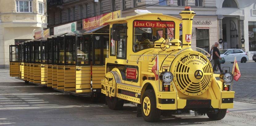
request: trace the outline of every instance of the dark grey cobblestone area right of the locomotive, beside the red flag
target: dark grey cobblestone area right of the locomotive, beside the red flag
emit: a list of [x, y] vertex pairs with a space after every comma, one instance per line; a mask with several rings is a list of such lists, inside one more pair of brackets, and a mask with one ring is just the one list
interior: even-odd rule
[[[221, 64], [221, 67], [233, 68], [232, 63]], [[235, 101], [256, 104], [256, 62], [238, 63], [241, 77], [238, 81], [233, 80]]]

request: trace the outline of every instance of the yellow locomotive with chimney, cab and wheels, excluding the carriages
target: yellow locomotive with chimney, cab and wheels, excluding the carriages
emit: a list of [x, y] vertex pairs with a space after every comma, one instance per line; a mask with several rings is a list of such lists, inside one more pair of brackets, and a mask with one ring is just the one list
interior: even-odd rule
[[[101, 93], [109, 108], [120, 109], [128, 100], [141, 106], [144, 120], [150, 122], [186, 110], [219, 120], [227, 108], [233, 108], [234, 92], [224, 90], [229, 84], [216, 80], [219, 75], [213, 73], [209, 53], [191, 47], [195, 13], [185, 8], [180, 15], [182, 20], [138, 14], [108, 22], [110, 53]], [[180, 23], [183, 42], [176, 39]]]

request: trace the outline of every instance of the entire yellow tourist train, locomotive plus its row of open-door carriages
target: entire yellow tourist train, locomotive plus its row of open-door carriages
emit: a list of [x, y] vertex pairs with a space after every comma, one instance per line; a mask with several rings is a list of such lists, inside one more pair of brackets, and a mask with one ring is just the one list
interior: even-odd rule
[[190, 110], [221, 120], [233, 108], [233, 75], [214, 74], [209, 53], [191, 47], [195, 14], [190, 7], [182, 19], [138, 14], [10, 45], [10, 76], [96, 99], [103, 94], [113, 110], [129, 101], [149, 122]]

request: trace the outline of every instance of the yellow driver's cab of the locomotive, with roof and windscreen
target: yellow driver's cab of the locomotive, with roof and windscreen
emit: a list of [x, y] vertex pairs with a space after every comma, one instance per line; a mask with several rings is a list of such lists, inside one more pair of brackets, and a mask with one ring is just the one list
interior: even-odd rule
[[[177, 41], [181, 22], [178, 18], [163, 14], [139, 14], [109, 21], [106, 73], [115, 69], [121, 74], [121, 83], [141, 86], [140, 76], [143, 76], [143, 71], [148, 72], [148, 66], [142, 64], [148, 64], [148, 61], [138, 61], [138, 58], [181, 48], [180, 41]], [[135, 70], [136, 75], [127, 75], [127, 70]]]

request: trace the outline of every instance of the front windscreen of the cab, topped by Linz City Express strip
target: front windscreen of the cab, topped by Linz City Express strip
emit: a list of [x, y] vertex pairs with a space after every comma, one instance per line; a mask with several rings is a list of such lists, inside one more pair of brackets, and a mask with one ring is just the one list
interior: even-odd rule
[[133, 22], [133, 51], [154, 48], [154, 42], [163, 39], [174, 39], [175, 23], [173, 21], [145, 21]]

